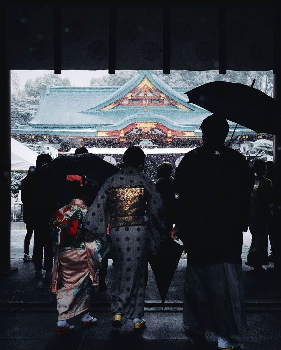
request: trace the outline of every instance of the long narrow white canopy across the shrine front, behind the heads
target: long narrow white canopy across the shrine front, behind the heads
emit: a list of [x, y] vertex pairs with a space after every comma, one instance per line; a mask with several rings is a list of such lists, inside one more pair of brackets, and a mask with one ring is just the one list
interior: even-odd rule
[[[185, 154], [195, 147], [183, 148], [142, 148], [145, 154]], [[68, 153], [74, 153], [76, 148], [70, 148]], [[113, 147], [90, 147], [87, 148], [89, 153], [94, 154], [124, 154], [127, 148], [113, 148]]]

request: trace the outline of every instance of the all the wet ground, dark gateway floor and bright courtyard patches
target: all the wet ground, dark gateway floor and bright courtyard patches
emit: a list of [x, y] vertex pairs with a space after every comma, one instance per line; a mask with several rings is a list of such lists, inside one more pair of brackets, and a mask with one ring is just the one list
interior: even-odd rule
[[[149, 280], [145, 294], [145, 318], [147, 328], [135, 331], [130, 320], [123, 320], [118, 330], [111, 325], [110, 286], [112, 280], [112, 260], [109, 260], [106, 282], [108, 290], [92, 290], [90, 314], [98, 318], [90, 329], [82, 329], [80, 317], [71, 320], [75, 325], [73, 334], [57, 337], [55, 326], [57, 311], [49, 292], [50, 280], [34, 278], [32, 262], [22, 261], [22, 247], [25, 226], [12, 224], [11, 244], [12, 266], [18, 271], [2, 279], [0, 285], [0, 349], [4, 350], [84, 350], [84, 349], [171, 349], [214, 350], [217, 348], [216, 335], [206, 332], [206, 344], [192, 344], [182, 328], [183, 322], [183, 282], [186, 267], [184, 257], [179, 265], [166, 298], [165, 311], [159, 301], [155, 279], [149, 267]], [[244, 235], [243, 276], [247, 307], [248, 334], [234, 336], [242, 342], [245, 350], [281, 349], [281, 282], [280, 278], [267, 272], [256, 273], [245, 265], [247, 243]], [[32, 245], [30, 245], [32, 253]], [[244, 254], [244, 255], [243, 255]], [[270, 266], [272, 264], [270, 263]]]

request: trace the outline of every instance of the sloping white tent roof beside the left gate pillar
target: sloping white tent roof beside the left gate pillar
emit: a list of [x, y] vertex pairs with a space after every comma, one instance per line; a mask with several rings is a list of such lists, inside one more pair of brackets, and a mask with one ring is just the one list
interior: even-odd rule
[[22, 145], [19, 141], [11, 139], [11, 170], [28, 170], [35, 166], [38, 153]]

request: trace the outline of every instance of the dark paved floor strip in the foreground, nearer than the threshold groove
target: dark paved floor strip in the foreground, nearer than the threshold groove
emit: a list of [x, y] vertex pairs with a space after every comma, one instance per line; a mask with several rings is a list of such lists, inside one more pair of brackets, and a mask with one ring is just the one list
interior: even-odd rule
[[[55, 311], [0, 310], [0, 348], [2, 350], [191, 350], [194, 346], [181, 327], [181, 312], [148, 311], [145, 313], [148, 327], [134, 331], [131, 321], [123, 320], [119, 330], [111, 327], [108, 312], [90, 310], [98, 319], [97, 324], [84, 330], [80, 317], [71, 320], [75, 325], [73, 334], [55, 336], [57, 313]], [[242, 342], [244, 350], [280, 350], [281, 312], [247, 311], [248, 334], [234, 336]], [[200, 350], [215, 350], [216, 335], [206, 332], [208, 343]]]

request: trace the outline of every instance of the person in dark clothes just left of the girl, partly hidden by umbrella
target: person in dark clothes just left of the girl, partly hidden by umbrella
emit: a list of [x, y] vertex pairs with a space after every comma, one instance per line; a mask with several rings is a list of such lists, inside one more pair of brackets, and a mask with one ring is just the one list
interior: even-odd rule
[[[33, 262], [35, 268], [35, 278], [43, 276], [42, 268], [46, 271], [45, 278], [52, 278], [53, 270], [53, 242], [50, 235], [49, 222], [53, 215], [51, 198], [46, 193], [44, 183], [40, 179], [40, 168], [50, 162], [52, 157], [49, 154], [39, 154], [36, 159], [36, 180], [34, 186], [34, 251]], [[43, 262], [44, 251], [44, 266]]]

